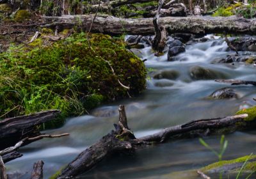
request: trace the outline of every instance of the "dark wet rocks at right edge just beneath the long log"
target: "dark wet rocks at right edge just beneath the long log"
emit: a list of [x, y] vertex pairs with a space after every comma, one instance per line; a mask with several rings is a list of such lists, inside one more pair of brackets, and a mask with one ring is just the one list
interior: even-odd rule
[[256, 38], [255, 37], [241, 36], [239, 38], [230, 38], [230, 43], [237, 49], [237, 51], [256, 52], [256, 45], [255, 45]]

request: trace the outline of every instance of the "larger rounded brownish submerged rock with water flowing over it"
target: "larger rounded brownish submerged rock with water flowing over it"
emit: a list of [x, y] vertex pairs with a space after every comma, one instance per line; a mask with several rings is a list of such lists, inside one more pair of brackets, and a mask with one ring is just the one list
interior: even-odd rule
[[194, 80], [202, 79], [226, 79], [226, 75], [216, 70], [203, 68], [201, 66], [193, 66], [190, 70], [190, 76]]

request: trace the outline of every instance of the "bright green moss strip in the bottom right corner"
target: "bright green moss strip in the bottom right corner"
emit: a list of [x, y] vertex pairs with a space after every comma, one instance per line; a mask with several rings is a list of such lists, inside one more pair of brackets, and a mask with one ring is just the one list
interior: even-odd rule
[[[200, 170], [201, 171], [209, 171], [211, 169], [217, 169], [219, 167], [222, 167], [222, 166], [225, 166], [228, 164], [236, 164], [236, 163], [240, 163], [240, 162], [245, 162], [246, 160], [256, 159], [256, 155], [252, 155], [250, 157], [250, 159], [248, 159], [248, 157], [250, 157], [250, 155], [246, 155], [244, 157], [240, 157], [238, 159], [233, 159], [233, 160], [221, 160], [220, 162], [216, 162], [214, 164], [210, 164], [209, 166], [203, 167]], [[248, 166], [248, 167], [252, 167], [252, 166]]]

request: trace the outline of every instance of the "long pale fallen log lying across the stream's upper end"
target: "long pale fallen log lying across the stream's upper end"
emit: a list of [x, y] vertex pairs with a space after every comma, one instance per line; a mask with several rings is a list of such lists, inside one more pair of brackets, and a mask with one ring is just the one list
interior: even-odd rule
[[[88, 31], [94, 15], [63, 15], [62, 17], [41, 17], [40, 27], [61, 26], [72, 28], [79, 24], [83, 30]], [[77, 20], [79, 19], [79, 20]], [[93, 22], [92, 32], [106, 33], [110, 35], [154, 35], [152, 18], [144, 19], [120, 19], [108, 15], [97, 15]], [[227, 33], [255, 34], [256, 19], [244, 19], [240, 17], [159, 17], [159, 25], [163, 26], [169, 34], [172, 33]], [[17, 25], [16, 25], [17, 26]]]

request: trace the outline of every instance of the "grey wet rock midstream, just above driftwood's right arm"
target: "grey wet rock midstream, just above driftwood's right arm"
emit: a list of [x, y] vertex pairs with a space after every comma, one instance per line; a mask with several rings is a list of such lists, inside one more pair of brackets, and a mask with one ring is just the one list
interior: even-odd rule
[[237, 98], [238, 95], [235, 93], [234, 89], [221, 88], [214, 91], [209, 97], [214, 99], [229, 99], [229, 98]]

